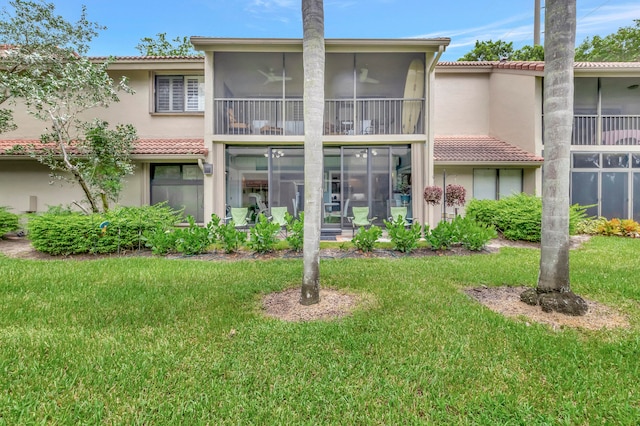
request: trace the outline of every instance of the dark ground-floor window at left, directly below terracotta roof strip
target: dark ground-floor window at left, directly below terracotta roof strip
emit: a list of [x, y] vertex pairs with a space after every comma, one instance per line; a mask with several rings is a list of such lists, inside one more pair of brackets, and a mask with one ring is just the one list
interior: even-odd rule
[[197, 164], [152, 164], [151, 204], [166, 202], [204, 221], [204, 176]]

